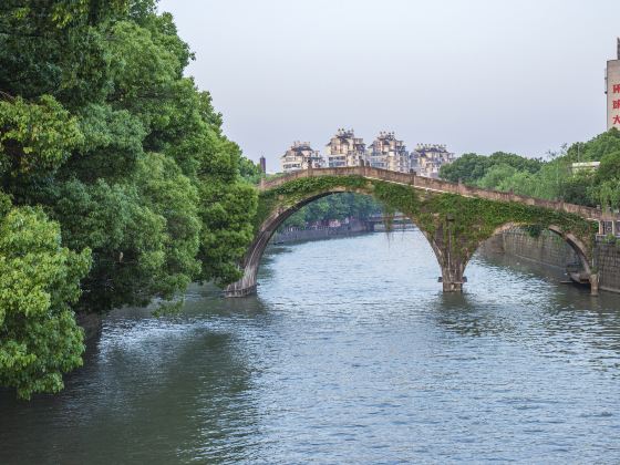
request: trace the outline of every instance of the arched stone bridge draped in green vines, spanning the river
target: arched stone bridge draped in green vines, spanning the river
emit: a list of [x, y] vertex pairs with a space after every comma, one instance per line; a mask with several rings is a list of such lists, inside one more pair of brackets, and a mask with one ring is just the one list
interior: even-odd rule
[[260, 258], [278, 227], [304, 205], [335, 193], [373, 196], [388, 213], [401, 211], [428, 240], [442, 270], [443, 290], [463, 289], [463, 272], [478, 246], [516, 226], [547, 228], [577, 252], [582, 279], [598, 290], [592, 262], [598, 223], [609, 214], [564, 202], [480, 189], [441, 179], [369, 166], [299, 170], [262, 182], [255, 237], [241, 265], [244, 276], [226, 288], [228, 297], [256, 291]]

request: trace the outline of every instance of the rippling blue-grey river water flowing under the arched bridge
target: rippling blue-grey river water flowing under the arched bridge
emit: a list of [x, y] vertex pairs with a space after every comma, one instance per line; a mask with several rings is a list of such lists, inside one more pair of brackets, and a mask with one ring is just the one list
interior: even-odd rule
[[620, 462], [620, 296], [415, 231], [273, 248], [257, 297], [110, 314], [56, 396], [0, 393], [0, 463]]

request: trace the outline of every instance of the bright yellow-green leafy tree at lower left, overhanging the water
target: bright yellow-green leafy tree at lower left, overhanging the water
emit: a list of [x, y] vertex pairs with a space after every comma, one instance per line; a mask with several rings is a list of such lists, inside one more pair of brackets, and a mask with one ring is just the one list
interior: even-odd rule
[[80, 296], [90, 250], [60, 245], [60, 228], [32, 208], [0, 220], [0, 385], [20, 397], [58, 392], [82, 364], [82, 331], [70, 304]]

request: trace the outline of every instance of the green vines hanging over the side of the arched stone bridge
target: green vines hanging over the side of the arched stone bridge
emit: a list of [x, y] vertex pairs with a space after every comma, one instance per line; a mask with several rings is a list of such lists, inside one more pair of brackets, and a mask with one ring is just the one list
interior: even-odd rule
[[402, 211], [422, 231], [431, 236], [451, 235], [453, 238], [450, 241], [451, 254], [464, 262], [483, 240], [493, 236], [497, 228], [508, 223], [536, 225], [540, 228], [555, 226], [579, 237], [590, 248], [596, 231], [593, 223], [577, 215], [519, 203], [469, 198], [454, 194], [424, 193], [409, 186], [360, 176], [297, 178], [273, 189], [261, 192], [255, 226], [258, 228], [278, 208], [291, 207], [304, 199], [342, 188], [373, 196], [385, 206], [388, 211]]

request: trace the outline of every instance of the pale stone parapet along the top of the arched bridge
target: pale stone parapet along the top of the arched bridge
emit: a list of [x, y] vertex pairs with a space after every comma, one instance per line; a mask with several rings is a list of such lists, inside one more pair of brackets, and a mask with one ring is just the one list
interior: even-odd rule
[[513, 193], [499, 190], [488, 190], [478, 187], [466, 186], [461, 183], [435, 179], [431, 177], [416, 176], [415, 174], [399, 173], [388, 169], [371, 168], [369, 166], [348, 166], [342, 168], [313, 168], [290, 173], [271, 180], [261, 180], [260, 190], [268, 190], [281, 186], [293, 179], [316, 176], [363, 176], [370, 179], [380, 179], [388, 183], [403, 184], [416, 189], [431, 190], [437, 193], [457, 194], [464, 197], [486, 198], [497, 202], [516, 202], [536, 207], [550, 208], [558, 211], [579, 215], [591, 220], [620, 220], [620, 215], [610, 214], [598, 208], [585, 207], [582, 205], [567, 204], [558, 200], [545, 200], [536, 197], [528, 197]]

